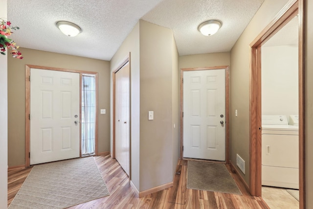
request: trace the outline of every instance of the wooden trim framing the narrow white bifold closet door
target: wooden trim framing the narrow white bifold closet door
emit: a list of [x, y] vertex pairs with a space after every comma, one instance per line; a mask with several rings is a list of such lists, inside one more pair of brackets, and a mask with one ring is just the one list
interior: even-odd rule
[[[131, 145], [131, 141], [132, 141], [132, 136], [131, 136], [131, 128], [132, 128], [132, 109], [131, 109], [131, 101], [132, 101], [132, 98], [131, 98], [131, 95], [132, 95], [132, 91], [131, 91], [131, 53], [129, 53], [129, 55], [127, 55], [124, 59], [123, 59], [123, 61], [120, 63], [120, 64], [118, 64], [118, 67], [115, 69], [115, 70], [113, 70], [112, 71], [112, 85], [113, 85], [113, 101], [112, 101], [112, 103], [113, 103], [113, 110], [112, 110], [112, 114], [113, 114], [113, 116], [112, 116], [112, 155], [111, 155], [111, 157], [112, 158], [115, 158], [115, 73], [118, 71], [118, 70], [120, 70], [127, 62], [129, 62], [129, 70], [130, 70], [130, 98], [129, 98], [129, 115], [130, 115], [130, 123], [129, 123], [129, 126], [130, 126], [130, 133], [129, 133], [129, 138], [130, 138], [130, 156], [129, 156], [129, 160], [130, 160], [130, 162], [129, 162], [129, 165], [130, 165], [130, 176], [131, 176], [131, 173], [132, 173], [132, 169], [131, 169], [131, 157], [132, 157], [132, 155], [131, 155], [131, 150], [132, 150], [132, 145]], [[130, 177], [129, 176], [129, 177]]]

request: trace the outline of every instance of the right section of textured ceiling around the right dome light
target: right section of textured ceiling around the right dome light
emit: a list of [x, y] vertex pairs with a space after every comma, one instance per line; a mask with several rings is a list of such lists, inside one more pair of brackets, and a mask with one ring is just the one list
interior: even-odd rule
[[[142, 17], [172, 28], [179, 55], [230, 51], [264, 0], [163, 0]], [[223, 25], [212, 36], [198, 26], [217, 19]]]

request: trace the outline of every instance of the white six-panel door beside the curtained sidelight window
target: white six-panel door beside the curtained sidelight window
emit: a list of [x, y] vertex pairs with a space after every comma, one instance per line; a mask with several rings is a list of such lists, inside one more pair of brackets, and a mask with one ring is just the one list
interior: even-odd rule
[[30, 69], [30, 78], [30, 164], [79, 157], [80, 74]]

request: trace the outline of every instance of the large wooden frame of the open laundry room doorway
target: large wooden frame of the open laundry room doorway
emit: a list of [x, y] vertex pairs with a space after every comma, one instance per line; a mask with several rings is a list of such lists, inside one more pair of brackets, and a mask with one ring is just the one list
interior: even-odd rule
[[299, 18], [299, 194], [300, 209], [305, 208], [305, 98], [304, 98], [304, 0], [290, 0], [250, 44], [250, 193], [262, 195], [262, 109], [261, 46], [297, 14]]

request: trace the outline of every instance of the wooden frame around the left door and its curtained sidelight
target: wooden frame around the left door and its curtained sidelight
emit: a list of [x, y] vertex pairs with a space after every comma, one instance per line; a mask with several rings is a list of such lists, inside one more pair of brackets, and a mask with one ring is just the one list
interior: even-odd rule
[[[40, 70], [55, 70], [55, 71], [64, 71], [64, 72], [76, 72], [80, 73], [80, 84], [79, 84], [79, 111], [80, 111], [80, 121], [82, 120], [82, 105], [81, 105], [81, 92], [82, 92], [82, 74], [94, 74], [96, 79], [96, 127], [95, 127], [95, 155], [98, 155], [98, 72], [92, 71], [83, 71], [83, 70], [69, 70], [63, 68], [53, 68], [53, 67], [45, 67], [45, 66], [37, 66], [37, 65], [25, 65], [25, 166], [30, 166], [30, 69], [40, 69]], [[79, 123], [79, 156], [82, 157], [81, 154], [81, 123]]]

